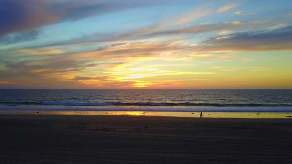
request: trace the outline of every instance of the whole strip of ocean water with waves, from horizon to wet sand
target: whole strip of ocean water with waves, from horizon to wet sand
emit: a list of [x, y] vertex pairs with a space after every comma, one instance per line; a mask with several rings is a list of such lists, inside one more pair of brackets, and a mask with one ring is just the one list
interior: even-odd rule
[[0, 110], [292, 112], [292, 89], [0, 89]]

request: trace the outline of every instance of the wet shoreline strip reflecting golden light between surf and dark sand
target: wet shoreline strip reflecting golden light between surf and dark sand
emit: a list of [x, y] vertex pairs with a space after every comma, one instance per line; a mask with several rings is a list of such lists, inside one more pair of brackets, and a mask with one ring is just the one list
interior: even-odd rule
[[[202, 112], [203, 118], [290, 119], [292, 112]], [[200, 112], [3, 110], [0, 115], [130, 115], [199, 118]]]

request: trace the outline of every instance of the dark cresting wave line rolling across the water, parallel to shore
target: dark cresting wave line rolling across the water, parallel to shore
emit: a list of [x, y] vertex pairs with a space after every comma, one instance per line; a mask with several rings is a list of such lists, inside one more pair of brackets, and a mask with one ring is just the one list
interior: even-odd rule
[[206, 107], [292, 107], [292, 104], [222, 104], [222, 103], [161, 103], [161, 102], [0, 102], [0, 105], [52, 105], [52, 106], [206, 106]]

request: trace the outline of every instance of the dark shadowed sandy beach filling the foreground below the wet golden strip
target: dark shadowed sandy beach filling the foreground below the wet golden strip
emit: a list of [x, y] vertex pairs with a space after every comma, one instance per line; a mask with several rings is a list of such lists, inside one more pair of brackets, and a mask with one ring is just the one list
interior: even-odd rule
[[1, 164], [291, 164], [292, 121], [0, 114]]

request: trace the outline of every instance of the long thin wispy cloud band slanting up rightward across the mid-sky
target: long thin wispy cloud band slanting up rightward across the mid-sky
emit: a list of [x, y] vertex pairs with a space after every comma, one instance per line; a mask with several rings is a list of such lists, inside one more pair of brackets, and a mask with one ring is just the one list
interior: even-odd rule
[[[222, 32], [222, 31], [232, 31], [232, 30], [241, 30], [241, 29], [264, 29], [264, 28], [274, 28], [279, 26], [280, 23], [275, 21], [253, 21], [253, 22], [241, 22], [241, 21], [225, 21], [223, 23], [209, 23], [202, 25], [195, 25], [190, 27], [179, 27], [173, 29], [147, 29], [146, 31], [136, 30], [128, 33], [109, 35], [106, 37], [99, 37], [93, 35], [91, 37], [78, 37], [66, 41], [57, 41], [53, 43], [47, 43], [43, 45], [38, 45], [37, 47], [46, 47], [46, 46], [61, 46], [61, 45], [74, 45], [74, 44], [92, 44], [92, 43], [101, 43], [109, 41], [135, 41], [135, 40], [145, 40], [154, 37], [163, 37], [163, 36], [181, 36], [181, 35], [197, 35], [208, 32]], [[154, 31], [153, 31], [154, 30]], [[98, 38], [98, 39], [96, 39]]]

